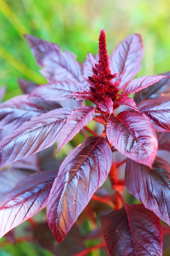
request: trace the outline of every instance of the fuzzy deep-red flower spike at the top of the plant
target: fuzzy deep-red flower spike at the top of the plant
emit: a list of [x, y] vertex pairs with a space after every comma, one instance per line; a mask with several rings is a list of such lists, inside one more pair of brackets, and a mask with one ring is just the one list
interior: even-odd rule
[[109, 67], [109, 56], [106, 48], [106, 34], [102, 28], [99, 36], [99, 61], [93, 67], [93, 76], [88, 76], [91, 83], [91, 93], [95, 99], [100, 102], [105, 98], [111, 98], [113, 101], [117, 97], [119, 81], [111, 82], [118, 73], [111, 74]]

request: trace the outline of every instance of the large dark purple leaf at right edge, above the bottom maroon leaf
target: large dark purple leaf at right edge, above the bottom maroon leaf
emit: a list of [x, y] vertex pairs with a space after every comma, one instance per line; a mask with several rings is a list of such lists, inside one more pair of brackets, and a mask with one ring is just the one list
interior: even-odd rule
[[150, 169], [127, 159], [125, 179], [128, 191], [170, 225], [170, 164], [156, 157]]

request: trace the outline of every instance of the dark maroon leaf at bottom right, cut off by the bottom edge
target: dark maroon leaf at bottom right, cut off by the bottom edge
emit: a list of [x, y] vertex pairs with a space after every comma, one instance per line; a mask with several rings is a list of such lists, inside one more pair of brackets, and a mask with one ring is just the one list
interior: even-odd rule
[[126, 205], [102, 218], [109, 256], [162, 256], [159, 218], [142, 204]]

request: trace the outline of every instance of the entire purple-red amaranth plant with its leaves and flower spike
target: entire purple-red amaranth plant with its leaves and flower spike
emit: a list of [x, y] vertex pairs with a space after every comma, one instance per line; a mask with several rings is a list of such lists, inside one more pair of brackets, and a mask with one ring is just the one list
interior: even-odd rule
[[[170, 225], [170, 163], [159, 151], [170, 151], [170, 72], [134, 79], [143, 57], [138, 34], [108, 56], [102, 29], [98, 62], [88, 53], [83, 64], [58, 45], [26, 40], [48, 83], [20, 80], [25, 94], [0, 104], [0, 235], [47, 207], [54, 238], [64, 245], [71, 241], [72, 255], [104, 248], [105, 240], [110, 256], [161, 256], [159, 218]], [[78, 134], [84, 141], [77, 146]], [[73, 146], [65, 159], [54, 157], [56, 141], [57, 153], [68, 142]], [[111, 193], [110, 187], [99, 189], [108, 175]], [[125, 186], [142, 204], [125, 202]], [[103, 215], [104, 237], [98, 225]], [[87, 217], [94, 230], [82, 235]], [[47, 247], [30, 223], [32, 240]], [[40, 228], [48, 229], [46, 223]], [[11, 234], [14, 241], [14, 233], [6, 237]], [[82, 241], [95, 238], [99, 245], [85, 249]], [[56, 248], [51, 245], [53, 253]], [[56, 255], [67, 254], [65, 246], [59, 248]]]

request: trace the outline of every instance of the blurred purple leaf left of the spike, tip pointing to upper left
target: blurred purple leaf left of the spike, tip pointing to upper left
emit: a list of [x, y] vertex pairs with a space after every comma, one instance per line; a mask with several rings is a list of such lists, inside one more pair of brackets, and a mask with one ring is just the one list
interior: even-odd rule
[[26, 35], [25, 38], [38, 65], [44, 66], [41, 73], [47, 81], [82, 80], [82, 66], [76, 61], [75, 54], [62, 52], [59, 45], [34, 36]]

